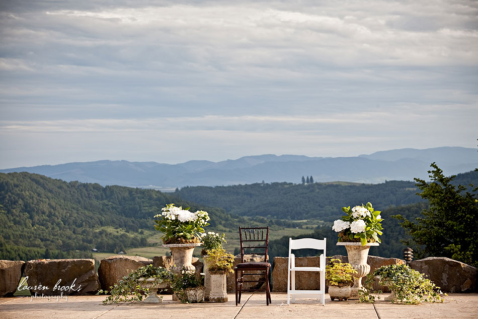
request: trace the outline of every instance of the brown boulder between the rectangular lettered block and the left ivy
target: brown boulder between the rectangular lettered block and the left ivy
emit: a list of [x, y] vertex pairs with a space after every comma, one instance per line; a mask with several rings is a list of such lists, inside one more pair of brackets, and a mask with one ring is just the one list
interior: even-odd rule
[[139, 256], [111, 256], [102, 259], [98, 268], [101, 289], [110, 291], [124, 276], [140, 267], [152, 264], [152, 260]]

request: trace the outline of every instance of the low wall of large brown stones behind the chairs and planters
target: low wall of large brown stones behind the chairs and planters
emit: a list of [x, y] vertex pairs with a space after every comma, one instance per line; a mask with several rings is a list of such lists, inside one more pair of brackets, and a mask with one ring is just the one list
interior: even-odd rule
[[[348, 262], [347, 256], [336, 255], [342, 262]], [[327, 263], [330, 263], [330, 257]], [[251, 257], [250, 261], [259, 261]], [[234, 264], [240, 262], [240, 257], [236, 256]], [[272, 291], [287, 291], [287, 258], [276, 257], [272, 270]], [[91, 294], [101, 288], [107, 290], [110, 286], [118, 283], [123, 276], [139, 267], [153, 264], [170, 268], [172, 266], [171, 256], [153, 257], [153, 260], [138, 256], [112, 256], [103, 259], [98, 269], [98, 275], [95, 272], [95, 261], [92, 259], [69, 259], [69, 260], [46, 260], [46, 261], [2, 261], [0, 260], [0, 297], [12, 295], [19, 285], [22, 272], [23, 276], [28, 276], [28, 285], [34, 295], [58, 295], [58, 294]], [[298, 257], [296, 265], [299, 267], [316, 266], [319, 263], [318, 257]], [[395, 258], [381, 258], [369, 256], [367, 263], [370, 265], [371, 272], [381, 266], [391, 264], [404, 264], [403, 260]], [[195, 258], [193, 265], [196, 272], [202, 272], [202, 263]], [[425, 274], [437, 286], [441, 287], [443, 292], [474, 292], [477, 290], [476, 284], [478, 272], [476, 268], [454, 261], [448, 258], [430, 257], [417, 260], [410, 263], [410, 267]], [[58, 282], [58, 280], [60, 280]], [[327, 286], [326, 282], [326, 286]], [[46, 286], [48, 289], [42, 289], [39, 285]], [[37, 286], [37, 287], [34, 287]], [[81, 286], [81, 289], [77, 289]], [[54, 289], [57, 287], [56, 289]], [[68, 291], [58, 289], [58, 287], [72, 287]], [[316, 290], [320, 287], [320, 276], [312, 272], [296, 272], [296, 289]], [[386, 287], [374, 286], [374, 289], [388, 291]], [[234, 274], [227, 276], [227, 292], [234, 292]]]

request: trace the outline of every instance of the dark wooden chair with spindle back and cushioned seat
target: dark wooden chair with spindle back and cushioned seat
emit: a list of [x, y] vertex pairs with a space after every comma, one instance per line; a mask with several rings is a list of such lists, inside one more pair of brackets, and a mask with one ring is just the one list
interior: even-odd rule
[[[235, 305], [241, 302], [243, 291], [256, 291], [266, 284], [266, 304], [271, 300], [269, 288], [269, 272], [271, 264], [267, 262], [267, 247], [269, 245], [269, 226], [241, 227], [239, 226], [239, 240], [241, 242], [241, 263], [234, 267], [235, 278]], [[263, 255], [263, 262], [244, 262], [244, 255]], [[251, 271], [257, 271], [250, 273]], [[246, 280], [245, 276], [260, 276], [258, 280]], [[264, 278], [262, 278], [264, 277]], [[250, 277], [249, 277], [250, 278]], [[244, 283], [258, 283], [253, 288], [243, 290]]]

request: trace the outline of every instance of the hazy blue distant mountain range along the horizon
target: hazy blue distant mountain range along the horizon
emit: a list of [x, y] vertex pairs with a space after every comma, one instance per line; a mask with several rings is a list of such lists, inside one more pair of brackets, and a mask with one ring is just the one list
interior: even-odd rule
[[428, 179], [436, 162], [445, 175], [478, 167], [478, 152], [463, 147], [424, 150], [400, 149], [357, 157], [307, 157], [303, 155], [258, 155], [221, 162], [95, 161], [2, 169], [0, 172], [30, 172], [65, 181], [174, 190], [183, 186], [215, 186], [255, 182], [300, 183], [302, 176], [315, 182], [348, 181], [381, 183], [385, 180]]

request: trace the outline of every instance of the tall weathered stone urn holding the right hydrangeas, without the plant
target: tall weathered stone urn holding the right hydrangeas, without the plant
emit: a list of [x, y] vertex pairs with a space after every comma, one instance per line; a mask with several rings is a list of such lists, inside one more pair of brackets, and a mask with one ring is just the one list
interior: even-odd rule
[[338, 242], [338, 246], [345, 246], [349, 264], [357, 271], [351, 274], [354, 277], [354, 286], [351, 289], [350, 300], [359, 300], [358, 291], [362, 289], [362, 277], [367, 276], [370, 272], [370, 265], [367, 264], [368, 250], [371, 246], [378, 246], [378, 242], [368, 242], [362, 246], [361, 242]]

